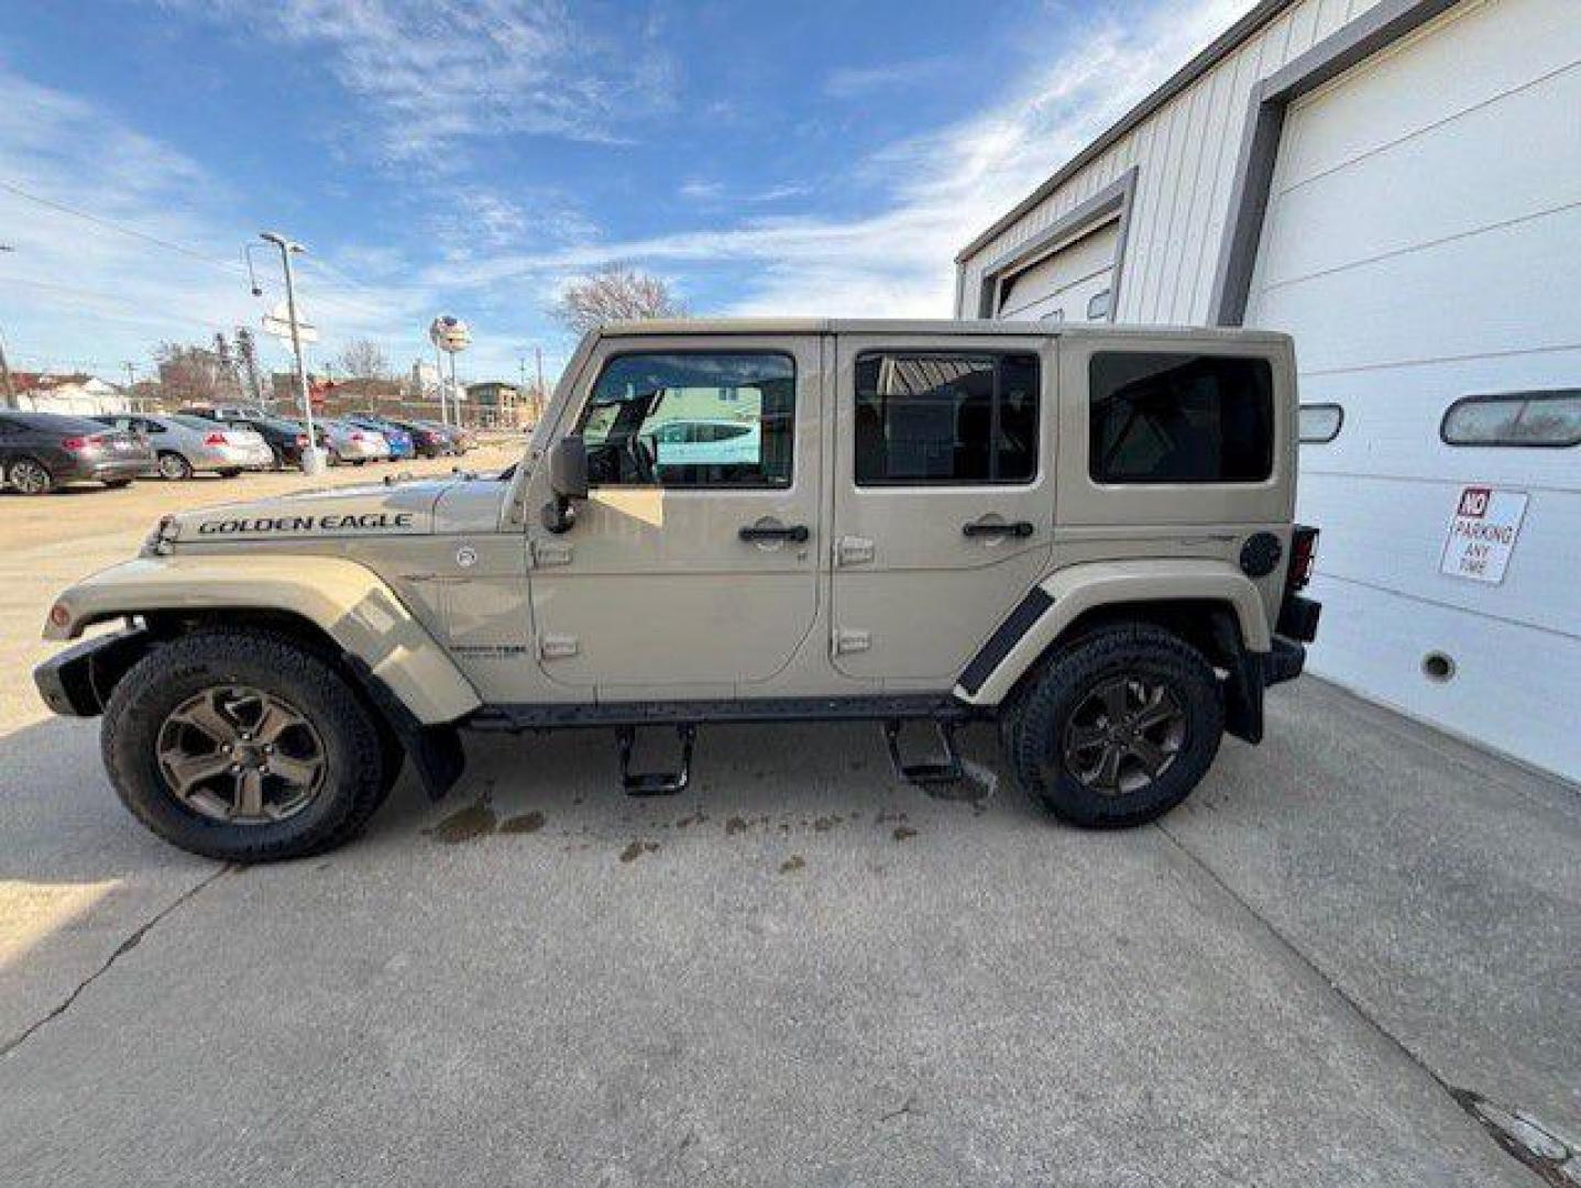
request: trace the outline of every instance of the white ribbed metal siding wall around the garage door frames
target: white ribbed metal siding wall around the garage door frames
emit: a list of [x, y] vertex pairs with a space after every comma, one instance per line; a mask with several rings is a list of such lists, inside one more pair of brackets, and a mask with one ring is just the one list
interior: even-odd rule
[[1124, 272], [1121, 322], [1205, 322], [1252, 85], [1377, 0], [1306, 0], [1247, 38], [1086, 169], [966, 261], [958, 316], [977, 316], [982, 265], [1024, 243], [1141, 166]]

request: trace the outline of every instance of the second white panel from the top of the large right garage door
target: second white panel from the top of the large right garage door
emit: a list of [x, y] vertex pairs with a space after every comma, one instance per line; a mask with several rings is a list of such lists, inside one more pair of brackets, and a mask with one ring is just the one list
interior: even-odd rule
[[[1581, 11], [1578, 11], [1581, 22]], [[1575, 118], [1554, 120], [1556, 111]], [[1581, 63], [1279, 194], [1263, 283], [1581, 204]], [[1423, 186], [1420, 179], [1431, 177]], [[1406, 197], [1409, 196], [1409, 199]]]

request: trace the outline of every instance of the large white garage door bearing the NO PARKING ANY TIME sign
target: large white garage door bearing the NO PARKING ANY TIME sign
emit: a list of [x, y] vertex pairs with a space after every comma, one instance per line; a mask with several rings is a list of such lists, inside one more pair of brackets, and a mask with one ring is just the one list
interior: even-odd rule
[[[1462, 397], [1581, 389], [1581, 5], [1464, 3], [1293, 104], [1246, 321], [1344, 408], [1301, 449], [1312, 670], [1581, 779], [1581, 447], [1440, 441]], [[1541, 409], [1516, 436], [1576, 430]], [[1502, 581], [1442, 572], [1467, 487], [1524, 496]]]

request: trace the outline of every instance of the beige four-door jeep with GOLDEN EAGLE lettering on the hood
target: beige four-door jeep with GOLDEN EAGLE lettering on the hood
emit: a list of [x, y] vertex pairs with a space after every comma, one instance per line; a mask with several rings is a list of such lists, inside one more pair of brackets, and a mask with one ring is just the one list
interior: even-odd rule
[[1134, 825], [1301, 671], [1295, 425], [1273, 333], [615, 324], [503, 474], [168, 517], [36, 681], [149, 828], [240, 861], [351, 837], [405, 760], [443, 795], [463, 728], [609, 727], [662, 795], [704, 724], [871, 719], [942, 784], [987, 719], [1055, 815]]

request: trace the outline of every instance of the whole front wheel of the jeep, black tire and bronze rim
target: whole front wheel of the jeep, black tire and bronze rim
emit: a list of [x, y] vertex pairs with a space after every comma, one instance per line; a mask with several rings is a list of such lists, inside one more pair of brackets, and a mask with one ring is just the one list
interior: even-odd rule
[[387, 791], [387, 747], [345, 678], [256, 630], [152, 651], [115, 686], [101, 742], [133, 815], [206, 858], [321, 853], [357, 834]]

